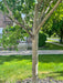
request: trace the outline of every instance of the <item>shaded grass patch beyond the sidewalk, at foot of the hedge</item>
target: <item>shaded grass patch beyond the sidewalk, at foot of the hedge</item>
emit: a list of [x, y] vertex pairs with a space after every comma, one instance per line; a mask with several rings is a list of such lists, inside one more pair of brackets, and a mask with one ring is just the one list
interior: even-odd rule
[[55, 45], [55, 44], [46, 42], [45, 46], [40, 48], [40, 50], [63, 50], [63, 46]]

